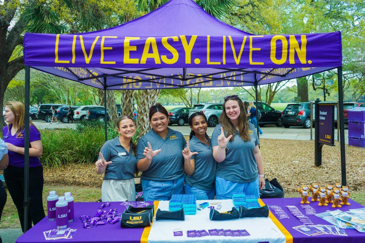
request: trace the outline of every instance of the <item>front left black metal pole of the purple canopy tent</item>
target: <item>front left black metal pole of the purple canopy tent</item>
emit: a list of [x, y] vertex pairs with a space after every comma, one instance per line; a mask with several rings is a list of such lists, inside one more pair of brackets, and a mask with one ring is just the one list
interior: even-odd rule
[[30, 67], [25, 66], [25, 115], [24, 115], [24, 225], [23, 232], [28, 230], [29, 205], [29, 100], [30, 100]]

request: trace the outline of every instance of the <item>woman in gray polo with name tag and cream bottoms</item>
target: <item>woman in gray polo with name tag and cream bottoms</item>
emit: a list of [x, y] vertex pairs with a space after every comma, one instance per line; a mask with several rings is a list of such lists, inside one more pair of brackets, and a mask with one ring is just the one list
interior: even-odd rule
[[128, 115], [119, 117], [116, 125], [120, 136], [105, 142], [95, 162], [96, 173], [105, 173], [101, 200], [135, 201], [134, 172], [137, 159], [132, 137], [136, 128], [133, 118]]

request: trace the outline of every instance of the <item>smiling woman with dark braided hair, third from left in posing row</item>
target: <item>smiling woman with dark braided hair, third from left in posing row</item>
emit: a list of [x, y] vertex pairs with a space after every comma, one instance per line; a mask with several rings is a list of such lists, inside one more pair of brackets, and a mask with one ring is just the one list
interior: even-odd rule
[[[215, 169], [211, 139], [207, 135], [207, 117], [201, 112], [189, 117], [190, 141], [183, 150], [185, 160], [185, 193], [195, 194], [197, 200], [214, 199]], [[191, 152], [193, 151], [193, 152]]]

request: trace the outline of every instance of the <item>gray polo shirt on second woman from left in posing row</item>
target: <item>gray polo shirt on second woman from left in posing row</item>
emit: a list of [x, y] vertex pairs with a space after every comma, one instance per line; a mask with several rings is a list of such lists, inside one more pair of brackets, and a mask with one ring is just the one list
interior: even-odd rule
[[148, 147], [147, 142], [150, 142], [153, 150], [161, 149], [152, 159], [150, 167], [142, 172], [142, 180], [170, 181], [184, 175], [184, 157], [181, 151], [186, 145], [186, 140], [180, 132], [168, 129], [165, 139], [151, 129], [138, 141], [137, 161], [145, 158], [143, 150]]

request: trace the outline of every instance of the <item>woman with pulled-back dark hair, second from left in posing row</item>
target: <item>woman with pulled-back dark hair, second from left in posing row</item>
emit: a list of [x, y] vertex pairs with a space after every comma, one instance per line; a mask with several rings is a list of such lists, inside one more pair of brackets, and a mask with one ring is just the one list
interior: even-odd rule
[[145, 201], [170, 200], [184, 194], [184, 158], [186, 145], [180, 132], [168, 128], [169, 113], [160, 103], [149, 112], [151, 130], [137, 144], [137, 168]]

